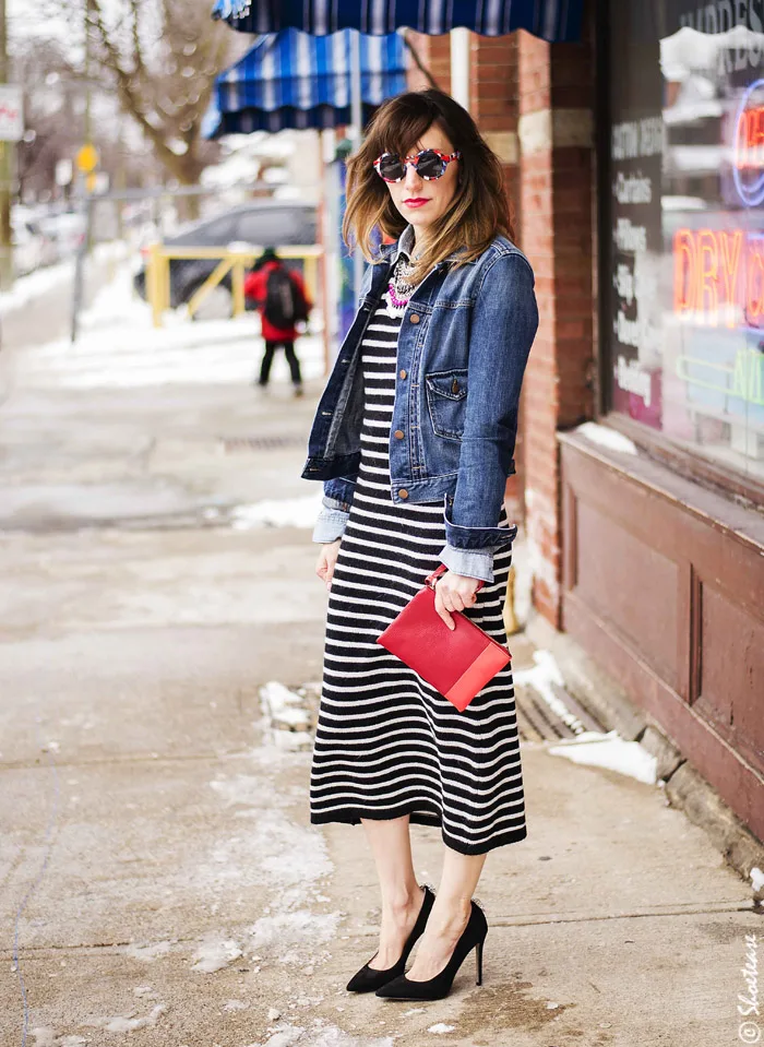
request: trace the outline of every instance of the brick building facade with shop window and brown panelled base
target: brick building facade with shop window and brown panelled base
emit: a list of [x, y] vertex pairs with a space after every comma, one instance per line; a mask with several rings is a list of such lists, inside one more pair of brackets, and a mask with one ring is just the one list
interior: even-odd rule
[[[444, 90], [447, 37], [414, 37]], [[764, 3], [592, 0], [469, 41], [541, 323], [534, 605], [764, 840]]]

